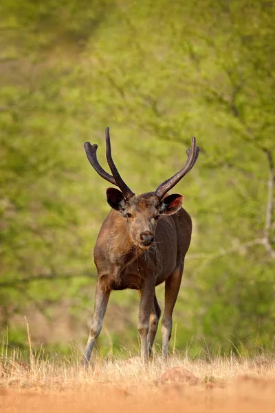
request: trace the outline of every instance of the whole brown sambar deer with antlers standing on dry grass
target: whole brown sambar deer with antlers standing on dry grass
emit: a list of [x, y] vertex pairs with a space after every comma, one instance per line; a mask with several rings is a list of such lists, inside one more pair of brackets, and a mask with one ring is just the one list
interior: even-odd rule
[[88, 366], [91, 351], [107, 309], [111, 290], [139, 290], [140, 308], [137, 329], [140, 335], [143, 363], [148, 362], [161, 310], [155, 296], [155, 286], [165, 282], [165, 306], [162, 318], [162, 353], [168, 354], [172, 330], [172, 314], [184, 257], [191, 240], [192, 221], [181, 208], [183, 195], [167, 195], [199, 156], [195, 137], [187, 149], [184, 167], [159, 185], [155, 192], [135, 193], [122, 180], [111, 156], [109, 128], [105, 129], [106, 156], [112, 175], [104, 171], [96, 158], [98, 145], [85, 142], [87, 158], [96, 172], [120, 188], [107, 189], [107, 202], [112, 208], [98, 233], [94, 247], [94, 262], [98, 270], [94, 315], [82, 363]]

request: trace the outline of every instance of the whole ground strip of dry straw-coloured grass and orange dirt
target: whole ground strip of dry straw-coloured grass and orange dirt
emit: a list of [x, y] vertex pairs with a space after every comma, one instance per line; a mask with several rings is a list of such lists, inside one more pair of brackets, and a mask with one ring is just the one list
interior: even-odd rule
[[275, 359], [217, 357], [190, 360], [156, 355], [148, 368], [139, 357], [113, 356], [83, 370], [76, 360], [23, 361], [1, 354], [0, 412], [274, 412]]

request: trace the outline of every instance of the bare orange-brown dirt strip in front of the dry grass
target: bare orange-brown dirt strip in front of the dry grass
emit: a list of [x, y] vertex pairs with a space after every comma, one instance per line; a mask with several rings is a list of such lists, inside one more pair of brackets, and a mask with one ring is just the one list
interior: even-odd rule
[[223, 385], [85, 385], [76, 390], [28, 388], [0, 390], [1, 413], [265, 413], [275, 411], [274, 381], [239, 377]]

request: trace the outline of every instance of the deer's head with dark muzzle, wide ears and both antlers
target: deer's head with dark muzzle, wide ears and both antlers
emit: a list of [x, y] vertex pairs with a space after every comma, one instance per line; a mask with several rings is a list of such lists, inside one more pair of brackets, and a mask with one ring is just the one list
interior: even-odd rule
[[173, 215], [181, 208], [184, 198], [183, 195], [180, 193], [166, 195], [166, 193], [195, 165], [199, 156], [199, 147], [196, 146], [196, 138], [192, 138], [191, 149], [187, 149], [186, 151], [187, 160], [184, 167], [175, 173], [174, 176], [162, 182], [155, 192], [144, 193], [139, 196], [135, 196], [135, 193], [125, 184], [118, 169], [115, 167], [111, 156], [109, 127], [105, 129], [105, 138], [106, 157], [112, 175], [104, 171], [98, 163], [96, 157], [98, 145], [91, 145], [89, 142], [85, 142], [84, 147], [87, 158], [91, 166], [94, 167], [102, 178], [120, 188], [120, 191], [116, 188], [107, 189], [107, 202], [111, 208], [118, 211], [118, 213], [127, 220], [127, 226], [133, 243], [140, 246], [140, 248], [148, 248], [153, 244], [155, 228], [159, 218], [161, 218], [162, 215]]

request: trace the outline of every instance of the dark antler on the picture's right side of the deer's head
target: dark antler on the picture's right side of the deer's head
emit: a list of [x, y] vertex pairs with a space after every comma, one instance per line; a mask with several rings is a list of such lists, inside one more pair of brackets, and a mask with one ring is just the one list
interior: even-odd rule
[[181, 178], [183, 178], [186, 173], [188, 173], [195, 165], [195, 162], [197, 161], [197, 158], [199, 156], [199, 147], [196, 146], [195, 136], [192, 137], [191, 149], [187, 149], [186, 155], [187, 160], [184, 167], [181, 168], [180, 171], [175, 173], [174, 176], [162, 182], [162, 184], [160, 184], [159, 187], [157, 187], [157, 189], [155, 190], [155, 195], [157, 196], [157, 198], [159, 198], [159, 200], [162, 199], [166, 192], [175, 187], [175, 184], [177, 184], [177, 182], [179, 182], [179, 180], [181, 180]]

